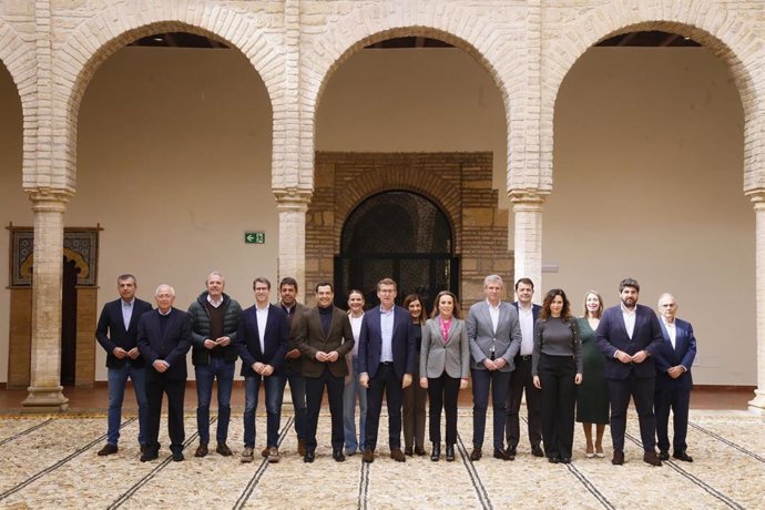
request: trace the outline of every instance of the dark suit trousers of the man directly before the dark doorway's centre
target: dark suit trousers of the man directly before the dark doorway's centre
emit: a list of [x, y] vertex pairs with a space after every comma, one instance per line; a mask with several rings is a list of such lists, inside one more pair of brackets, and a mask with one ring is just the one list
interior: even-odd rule
[[392, 364], [380, 364], [375, 377], [369, 379], [369, 388], [367, 388], [367, 437], [364, 447], [368, 450], [377, 448], [382, 394], [388, 406], [388, 445], [391, 449], [401, 448], [401, 404], [404, 401], [401, 379], [396, 376]]

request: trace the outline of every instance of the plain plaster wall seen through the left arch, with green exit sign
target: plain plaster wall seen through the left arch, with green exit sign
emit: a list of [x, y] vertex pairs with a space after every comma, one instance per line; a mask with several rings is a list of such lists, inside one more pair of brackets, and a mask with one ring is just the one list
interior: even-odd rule
[[[186, 309], [213, 269], [251, 305], [253, 278], [273, 282], [277, 268], [271, 144], [265, 86], [239, 53], [125, 48], [111, 57], [83, 98], [78, 193], [65, 217], [104, 228], [99, 309], [116, 298], [122, 273], [135, 274], [151, 302], [159, 284], [173, 285]], [[266, 244], [245, 245], [245, 231], [264, 231]]]

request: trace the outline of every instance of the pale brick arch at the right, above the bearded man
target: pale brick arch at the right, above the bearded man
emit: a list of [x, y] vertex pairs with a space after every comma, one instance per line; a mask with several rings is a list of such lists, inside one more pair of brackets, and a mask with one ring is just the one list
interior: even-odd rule
[[[568, 30], [545, 50], [542, 75], [542, 154], [539, 188], [552, 190], [553, 116], [560, 85], [577, 60], [593, 44], [621, 33], [641, 30], [662, 30], [690, 37], [713, 51], [727, 65], [742, 100], [744, 110], [744, 181], [745, 190], [756, 183], [765, 185], [765, 172], [758, 169], [756, 133], [763, 125], [762, 100], [758, 101], [753, 65], [757, 62], [757, 44], [752, 42], [749, 24], [742, 22], [720, 4], [694, 8], [692, 0], [675, 2], [667, 9], [660, 0], [641, 2], [640, 9], [626, 0], [609, 2], [608, 6], [590, 11], [571, 23]], [[554, 55], [554, 59], [551, 58]], [[763, 173], [763, 175], [758, 175]], [[513, 183], [511, 183], [513, 187]]]

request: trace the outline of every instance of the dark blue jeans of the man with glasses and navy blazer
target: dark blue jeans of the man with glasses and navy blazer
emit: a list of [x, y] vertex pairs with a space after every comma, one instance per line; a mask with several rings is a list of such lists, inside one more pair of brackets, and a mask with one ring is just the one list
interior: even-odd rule
[[261, 385], [266, 387], [266, 446], [277, 447], [282, 426], [282, 400], [284, 398], [284, 376], [261, 376], [244, 378], [244, 446], [255, 448], [255, 411]]

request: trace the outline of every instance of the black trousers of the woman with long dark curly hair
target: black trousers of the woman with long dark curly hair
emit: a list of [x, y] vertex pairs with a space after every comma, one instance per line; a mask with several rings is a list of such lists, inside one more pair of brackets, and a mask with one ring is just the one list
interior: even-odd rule
[[577, 364], [572, 356], [541, 356], [542, 437], [544, 453], [549, 458], [571, 458], [577, 406], [575, 376]]

